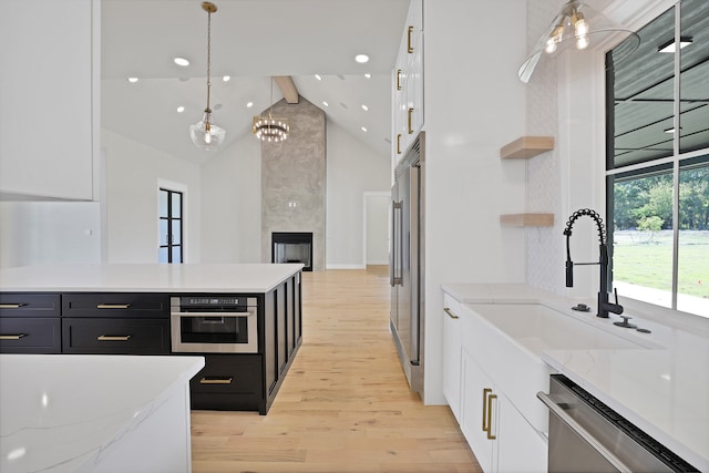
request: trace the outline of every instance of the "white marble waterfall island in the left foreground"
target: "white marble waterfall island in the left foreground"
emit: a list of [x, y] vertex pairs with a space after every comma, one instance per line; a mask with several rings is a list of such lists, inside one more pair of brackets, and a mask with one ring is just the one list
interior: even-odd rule
[[189, 472], [202, 357], [0, 354], [0, 471]]

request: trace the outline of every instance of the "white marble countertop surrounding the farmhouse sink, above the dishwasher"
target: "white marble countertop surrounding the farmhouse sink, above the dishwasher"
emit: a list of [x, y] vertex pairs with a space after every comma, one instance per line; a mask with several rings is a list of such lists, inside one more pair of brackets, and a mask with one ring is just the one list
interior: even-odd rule
[[[443, 290], [463, 304], [541, 302], [571, 312], [578, 302], [520, 284], [449, 284]], [[620, 320], [618, 316], [599, 319], [594, 313], [573, 316], [588, 317], [599, 330], [646, 348], [546, 350], [542, 359], [693, 466], [709, 472], [709, 319], [696, 317], [693, 327], [687, 328], [686, 323], [665, 326], [630, 311], [634, 323], [653, 331], [639, 333], [613, 326]]]

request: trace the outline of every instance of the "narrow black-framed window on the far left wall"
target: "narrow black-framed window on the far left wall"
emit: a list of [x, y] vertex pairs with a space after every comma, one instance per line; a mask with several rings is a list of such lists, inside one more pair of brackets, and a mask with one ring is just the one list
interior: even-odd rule
[[183, 193], [160, 189], [158, 263], [183, 263]]

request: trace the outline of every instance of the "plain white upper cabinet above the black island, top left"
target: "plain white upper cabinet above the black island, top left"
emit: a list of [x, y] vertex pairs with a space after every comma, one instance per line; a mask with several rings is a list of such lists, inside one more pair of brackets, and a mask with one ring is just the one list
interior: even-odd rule
[[[0, 195], [94, 197], [97, 0], [0, 2]], [[97, 146], [96, 146], [97, 148]]]

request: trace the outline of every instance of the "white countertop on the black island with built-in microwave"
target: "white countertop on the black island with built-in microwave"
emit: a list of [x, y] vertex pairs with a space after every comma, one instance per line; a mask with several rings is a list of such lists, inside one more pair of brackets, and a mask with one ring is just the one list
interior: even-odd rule
[[268, 292], [301, 264], [81, 264], [0, 269], [2, 291]]

